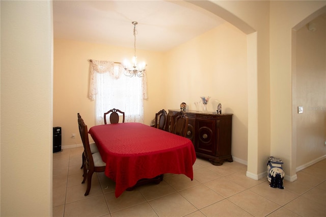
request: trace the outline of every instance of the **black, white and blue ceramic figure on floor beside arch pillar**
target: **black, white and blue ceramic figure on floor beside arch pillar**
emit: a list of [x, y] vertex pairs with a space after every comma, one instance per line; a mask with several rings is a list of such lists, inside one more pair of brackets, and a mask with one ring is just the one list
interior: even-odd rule
[[282, 168], [283, 161], [280, 158], [269, 157], [267, 162], [267, 180], [270, 182], [270, 187], [278, 187], [284, 189], [283, 179], [284, 171]]

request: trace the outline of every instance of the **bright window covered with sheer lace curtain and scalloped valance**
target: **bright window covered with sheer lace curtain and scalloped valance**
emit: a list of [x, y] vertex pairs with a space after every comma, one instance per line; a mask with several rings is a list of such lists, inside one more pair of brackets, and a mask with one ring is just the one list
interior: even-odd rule
[[96, 99], [96, 124], [104, 124], [103, 114], [112, 108], [125, 112], [125, 122], [144, 122], [146, 75], [127, 77], [123, 70], [120, 63], [91, 61], [89, 99]]

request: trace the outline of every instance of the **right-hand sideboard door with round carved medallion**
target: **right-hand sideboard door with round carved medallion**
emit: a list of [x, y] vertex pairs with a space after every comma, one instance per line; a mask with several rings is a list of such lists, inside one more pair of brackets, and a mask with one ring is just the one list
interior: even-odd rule
[[216, 120], [196, 119], [196, 152], [215, 156], [216, 154]]

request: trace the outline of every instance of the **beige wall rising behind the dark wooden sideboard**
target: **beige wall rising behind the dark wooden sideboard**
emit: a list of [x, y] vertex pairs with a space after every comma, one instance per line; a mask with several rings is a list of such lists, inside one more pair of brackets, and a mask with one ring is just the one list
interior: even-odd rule
[[178, 109], [181, 102], [196, 110], [200, 96], [210, 96], [207, 110], [232, 113], [232, 156], [247, 164], [248, 86], [247, 38], [225, 22], [217, 28], [166, 53], [168, 101]]

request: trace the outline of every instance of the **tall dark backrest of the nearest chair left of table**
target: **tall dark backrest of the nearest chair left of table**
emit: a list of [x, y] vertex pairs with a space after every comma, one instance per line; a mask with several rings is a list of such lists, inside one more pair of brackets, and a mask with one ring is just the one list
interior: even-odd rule
[[88, 168], [94, 168], [94, 160], [91, 152], [90, 141], [88, 139], [88, 130], [87, 125], [84, 123], [82, 117], [77, 114], [78, 117], [78, 128], [80, 138], [82, 138], [83, 146], [84, 146], [84, 156], [86, 159], [86, 165]]

